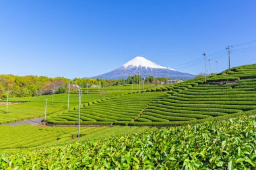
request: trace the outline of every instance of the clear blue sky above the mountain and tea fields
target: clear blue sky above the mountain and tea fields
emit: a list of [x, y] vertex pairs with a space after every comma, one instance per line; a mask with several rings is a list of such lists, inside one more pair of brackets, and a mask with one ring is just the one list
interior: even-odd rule
[[228, 44], [232, 67], [256, 63], [255, 9], [254, 0], [1, 0], [0, 74], [92, 77], [143, 56], [197, 75], [203, 52], [222, 50], [209, 57], [227, 69]]

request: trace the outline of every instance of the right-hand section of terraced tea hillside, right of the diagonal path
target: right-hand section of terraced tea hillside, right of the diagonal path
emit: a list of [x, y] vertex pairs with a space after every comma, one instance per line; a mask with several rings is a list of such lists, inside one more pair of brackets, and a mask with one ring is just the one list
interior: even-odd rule
[[256, 90], [240, 87], [242, 82], [250, 82], [251, 87], [256, 85], [256, 79], [224, 86], [196, 85], [150, 104], [136, 121], [140, 121], [138, 124], [179, 124], [256, 110]]

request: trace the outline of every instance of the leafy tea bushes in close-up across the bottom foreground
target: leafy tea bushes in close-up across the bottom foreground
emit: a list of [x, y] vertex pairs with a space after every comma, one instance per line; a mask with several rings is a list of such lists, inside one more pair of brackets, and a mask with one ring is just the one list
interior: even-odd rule
[[256, 116], [0, 156], [1, 169], [256, 169]]

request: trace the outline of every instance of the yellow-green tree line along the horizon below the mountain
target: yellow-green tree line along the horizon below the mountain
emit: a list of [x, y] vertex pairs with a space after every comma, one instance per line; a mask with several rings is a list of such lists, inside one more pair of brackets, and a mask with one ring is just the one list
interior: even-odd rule
[[[90, 87], [91, 85], [98, 85], [100, 87], [111, 85], [124, 85], [131, 83], [156, 83], [157, 81], [166, 82], [167, 79], [163, 77], [153, 76], [142, 78], [139, 75], [129, 76], [127, 79], [82, 79], [75, 78], [73, 80], [65, 77], [46, 77], [46, 76], [16, 76], [16, 75], [0, 75], [0, 98], [5, 98], [7, 93], [10, 97], [30, 97], [52, 93], [65, 93], [69, 82], [71, 84], [79, 85], [80, 87]], [[71, 87], [71, 89], [74, 87]]]

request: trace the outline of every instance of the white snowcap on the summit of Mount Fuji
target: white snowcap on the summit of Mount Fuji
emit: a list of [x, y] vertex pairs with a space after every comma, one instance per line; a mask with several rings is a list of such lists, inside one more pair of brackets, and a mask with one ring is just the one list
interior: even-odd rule
[[[150, 60], [147, 60], [146, 58], [142, 56], [136, 56], [132, 60], [129, 60], [123, 65], [124, 69], [133, 69], [133, 68], [139, 68], [139, 67], [145, 67], [146, 69], [169, 69], [167, 67], [162, 67], [155, 62], [152, 62]], [[174, 69], [169, 69], [174, 71]]]

